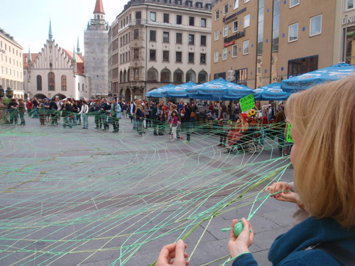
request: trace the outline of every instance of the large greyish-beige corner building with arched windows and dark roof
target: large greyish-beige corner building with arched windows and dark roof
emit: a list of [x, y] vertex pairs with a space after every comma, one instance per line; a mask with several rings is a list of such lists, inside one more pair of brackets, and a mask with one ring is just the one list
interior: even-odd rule
[[209, 81], [211, 2], [131, 0], [109, 31], [111, 92], [144, 98], [166, 84]]

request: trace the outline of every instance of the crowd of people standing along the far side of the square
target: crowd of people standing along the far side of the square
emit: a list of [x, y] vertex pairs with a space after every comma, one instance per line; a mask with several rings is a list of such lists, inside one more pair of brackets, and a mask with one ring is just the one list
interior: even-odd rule
[[[201, 108], [200, 106], [204, 106]], [[230, 101], [226, 106], [216, 102], [209, 105], [204, 102], [197, 106], [197, 102], [178, 102], [170, 100], [167, 104], [162, 101], [154, 102], [134, 99], [132, 102], [116, 101], [116, 99], [11, 99], [7, 106], [8, 116], [6, 123], [25, 125], [25, 113], [29, 118], [38, 118], [40, 126], [58, 126], [62, 120], [63, 128], [72, 128], [82, 125], [89, 128], [88, 116], [94, 116], [94, 128], [109, 131], [112, 125], [113, 133], [119, 133], [119, 120], [130, 118], [133, 130], [137, 136], [142, 137], [148, 127], [153, 128], [153, 135], [168, 133], [172, 141], [183, 139], [182, 132], [186, 133], [187, 142], [191, 133], [214, 130], [219, 135], [219, 144], [226, 147], [229, 152], [248, 150], [247, 146], [254, 140], [263, 149], [266, 133], [278, 138], [279, 152], [288, 155], [288, 144], [285, 142], [285, 115], [281, 103], [274, 111], [273, 104], [258, 108], [258, 103], [249, 112], [241, 113], [239, 101]], [[201, 110], [199, 110], [199, 107]], [[202, 126], [201, 122], [202, 121]], [[275, 124], [274, 124], [275, 123]], [[275, 125], [270, 127], [269, 125]]]

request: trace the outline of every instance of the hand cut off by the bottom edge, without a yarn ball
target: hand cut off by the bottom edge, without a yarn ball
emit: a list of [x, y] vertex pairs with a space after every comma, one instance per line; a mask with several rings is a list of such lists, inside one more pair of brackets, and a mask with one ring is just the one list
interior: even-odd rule
[[178, 240], [177, 243], [173, 243], [170, 245], [165, 245], [160, 250], [160, 254], [158, 257], [155, 266], [187, 266], [189, 265], [189, 261], [185, 260], [188, 257], [187, 253], [185, 253], [185, 245], [183, 240]]

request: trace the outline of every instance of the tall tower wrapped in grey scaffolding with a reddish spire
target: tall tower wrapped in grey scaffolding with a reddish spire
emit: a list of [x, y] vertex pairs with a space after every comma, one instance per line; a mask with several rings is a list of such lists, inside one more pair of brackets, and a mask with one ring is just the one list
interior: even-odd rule
[[109, 92], [108, 28], [102, 0], [97, 0], [94, 18], [87, 23], [87, 30], [84, 31], [85, 75], [89, 79], [92, 97], [107, 96]]

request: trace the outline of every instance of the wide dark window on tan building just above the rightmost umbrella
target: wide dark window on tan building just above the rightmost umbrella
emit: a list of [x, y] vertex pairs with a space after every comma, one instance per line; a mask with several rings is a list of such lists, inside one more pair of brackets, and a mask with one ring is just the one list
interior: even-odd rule
[[288, 61], [288, 77], [298, 76], [318, 69], [318, 55]]

